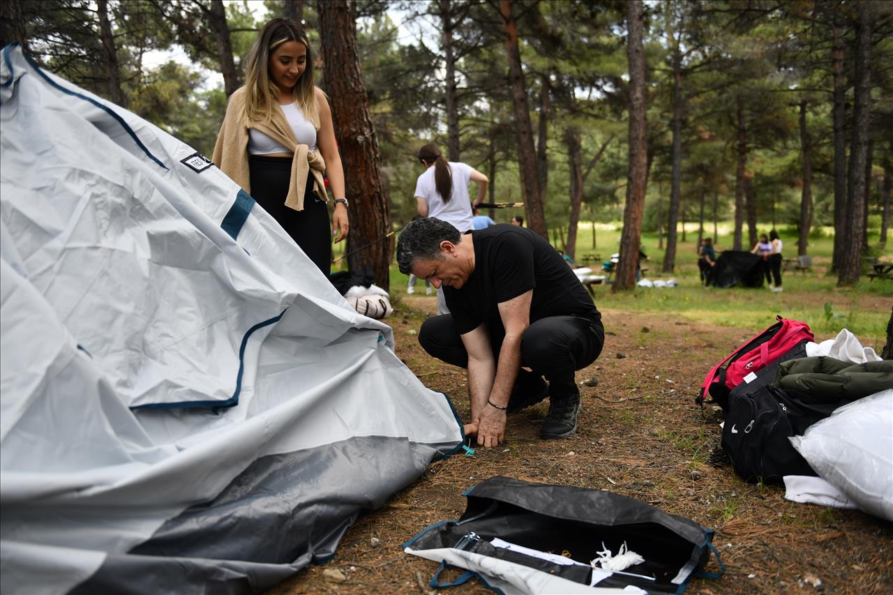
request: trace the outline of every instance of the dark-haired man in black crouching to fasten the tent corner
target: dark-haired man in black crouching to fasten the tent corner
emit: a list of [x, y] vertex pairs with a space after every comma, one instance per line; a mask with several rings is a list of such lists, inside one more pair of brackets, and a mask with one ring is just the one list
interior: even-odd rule
[[444, 288], [450, 314], [425, 321], [419, 343], [431, 356], [468, 370], [472, 418], [466, 434], [495, 447], [505, 436], [506, 413], [547, 397], [540, 436], [576, 431], [574, 373], [596, 360], [605, 330], [554, 247], [522, 227], [499, 224], [460, 235], [430, 218], [406, 225], [396, 255], [400, 272]]

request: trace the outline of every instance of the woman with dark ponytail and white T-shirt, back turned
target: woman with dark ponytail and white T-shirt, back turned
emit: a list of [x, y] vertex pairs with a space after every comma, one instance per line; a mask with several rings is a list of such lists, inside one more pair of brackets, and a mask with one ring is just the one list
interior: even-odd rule
[[[474, 205], [480, 205], [487, 196], [487, 176], [467, 163], [447, 162], [435, 145], [421, 147], [418, 157], [425, 167], [425, 172], [415, 182], [419, 215], [437, 217], [453, 225], [459, 233], [471, 230], [472, 204], [468, 185], [472, 181], [478, 183]], [[438, 289], [438, 314], [449, 314], [443, 289]]]

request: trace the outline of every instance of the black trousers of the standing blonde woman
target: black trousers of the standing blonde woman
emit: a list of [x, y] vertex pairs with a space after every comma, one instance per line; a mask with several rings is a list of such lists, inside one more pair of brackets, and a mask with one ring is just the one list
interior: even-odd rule
[[329, 207], [313, 193], [313, 176], [307, 176], [304, 210], [296, 211], [285, 205], [288, 182], [291, 180], [290, 157], [251, 155], [248, 165], [251, 197], [272, 215], [322, 274], [328, 277], [332, 261]]

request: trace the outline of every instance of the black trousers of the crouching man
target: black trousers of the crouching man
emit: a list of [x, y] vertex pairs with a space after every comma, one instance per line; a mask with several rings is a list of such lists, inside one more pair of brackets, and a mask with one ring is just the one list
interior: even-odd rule
[[[505, 335], [490, 332], [490, 346], [493, 356], [499, 361], [499, 349]], [[468, 352], [462, 338], [455, 329], [452, 314], [434, 316], [421, 325], [419, 344], [430, 356], [468, 367]], [[600, 320], [590, 321], [576, 316], [549, 316], [531, 323], [522, 334], [521, 365], [524, 370], [518, 375], [512, 393], [512, 401], [524, 398], [525, 393], [535, 390], [535, 383], [541, 384], [539, 376], [549, 382], [549, 397], [561, 399], [572, 397], [577, 392], [574, 373], [596, 361], [605, 344], [605, 328]], [[524, 386], [529, 384], [530, 386]], [[510, 401], [510, 404], [511, 402]]]

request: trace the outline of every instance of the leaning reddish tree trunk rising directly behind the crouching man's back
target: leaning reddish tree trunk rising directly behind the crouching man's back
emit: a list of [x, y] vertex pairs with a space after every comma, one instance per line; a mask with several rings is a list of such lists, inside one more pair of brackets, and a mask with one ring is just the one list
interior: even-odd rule
[[500, 0], [499, 12], [505, 25], [505, 53], [508, 56], [509, 75], [512, 79], [514, 104], [514, 124], [518, 137], [518, 167], [521, 174], [521, 190], [524, 199], [524, 212], [530, 230], [548, 239], [546, 217], [543, 205], [539, 202], [539, 180], [537, 158], [533, 149], [533, 127], [530, 124], [530, 107], [527, 103], [527, 88], [524, 85], [524, 72], [521, 67], [521, 49], [518, 46], [518, 25], [514, 21], [513, 1]]

